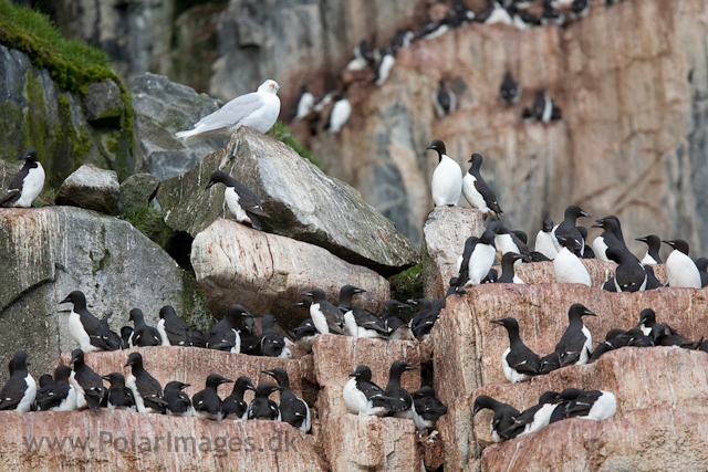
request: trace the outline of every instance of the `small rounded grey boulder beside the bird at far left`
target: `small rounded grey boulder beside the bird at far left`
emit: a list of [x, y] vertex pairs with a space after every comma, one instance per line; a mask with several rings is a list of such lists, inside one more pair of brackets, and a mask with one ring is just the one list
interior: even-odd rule
[[84, 164], [61, 185], [56, 203], [115, 214], [119, 196], [121, 186], [115, 171]]

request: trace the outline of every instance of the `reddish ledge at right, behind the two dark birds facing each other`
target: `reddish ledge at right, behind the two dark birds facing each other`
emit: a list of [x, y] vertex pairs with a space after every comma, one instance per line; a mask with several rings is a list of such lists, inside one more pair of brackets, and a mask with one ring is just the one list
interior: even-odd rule
[[582, 303], [597, 314], [584, 323], [594, 339], [612, 328], [636, 326], [639, 312], [652, 307], [657, 321], [686, 337], [708, 336], [708, 291], [657, 289], [638, 293], [610, 293], [575, 284], [494, 284], [471, 289], [464, 297], [449, 297], [447, 310], [431, 332], [435, 344], [435, 386], [442, 401], [469, 395], [485, 385], [507, 384], [501, 355], [509, 347], [506, 331], [489, 323], [506, 316], [519, 321], [521, 339], [533, 352], [553, 352], [568, 327], [568, 310]]

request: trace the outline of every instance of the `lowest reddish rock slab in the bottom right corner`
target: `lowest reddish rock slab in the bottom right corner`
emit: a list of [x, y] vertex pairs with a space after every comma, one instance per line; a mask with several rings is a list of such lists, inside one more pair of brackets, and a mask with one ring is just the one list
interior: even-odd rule
[[481, 471], [693, 471], [706, 463], [708, 415], [650, 408], [605, 421], [564, 420], [492, 445]]

